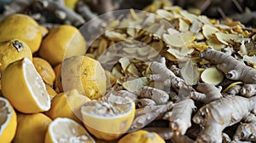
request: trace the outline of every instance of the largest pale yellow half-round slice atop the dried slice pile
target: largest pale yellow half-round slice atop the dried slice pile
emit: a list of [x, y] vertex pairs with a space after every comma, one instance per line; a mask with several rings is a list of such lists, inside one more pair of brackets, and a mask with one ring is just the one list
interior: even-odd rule
[[176, 48], [183, 48], [195, 40], [195, 36], [191, 31], [180, 32], [178, 34], [164, 34], [163, 40], [166, 44]]

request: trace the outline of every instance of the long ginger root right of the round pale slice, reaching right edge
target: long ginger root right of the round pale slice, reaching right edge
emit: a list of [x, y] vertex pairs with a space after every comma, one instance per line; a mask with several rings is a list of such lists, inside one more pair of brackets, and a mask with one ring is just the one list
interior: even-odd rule
[[244, 83], [256, 83], [256, 69], [246, 66], [229, 54], [208, 48], [200, 56], [217, 65], [217, 68], [224, 72], [227, 78], [239, 80]]

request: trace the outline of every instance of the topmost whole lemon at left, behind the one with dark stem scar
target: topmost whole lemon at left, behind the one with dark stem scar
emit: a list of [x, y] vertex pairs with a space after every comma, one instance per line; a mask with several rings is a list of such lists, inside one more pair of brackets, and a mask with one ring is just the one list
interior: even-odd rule
[[0, 21], [0, 42], [12, 38], [25, 42], [32, 53], [38, 51], [42, 31], [38, 23], [26, 14], [12, 14]]

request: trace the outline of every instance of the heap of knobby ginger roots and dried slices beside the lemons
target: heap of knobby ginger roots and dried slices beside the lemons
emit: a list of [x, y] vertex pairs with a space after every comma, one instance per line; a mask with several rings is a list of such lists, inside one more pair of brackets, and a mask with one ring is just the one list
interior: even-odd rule
[[86, 53], [107, 70], [108, 94], [135, 101], [130, 131], [167, 142], [256, 141], [256, 30], [168, 3], [144, 10], [111, 20]]

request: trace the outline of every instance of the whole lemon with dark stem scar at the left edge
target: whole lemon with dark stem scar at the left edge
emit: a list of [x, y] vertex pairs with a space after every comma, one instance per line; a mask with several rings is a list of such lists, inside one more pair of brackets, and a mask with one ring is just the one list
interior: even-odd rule
[[[1, 33], [1, 31], [0, 31]], [[3, 72], [10, 63], [22, 58], [32, 60], [32, 52], [26, 43], [12, 39], [0, 43], [0, 72]]]

